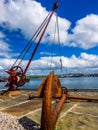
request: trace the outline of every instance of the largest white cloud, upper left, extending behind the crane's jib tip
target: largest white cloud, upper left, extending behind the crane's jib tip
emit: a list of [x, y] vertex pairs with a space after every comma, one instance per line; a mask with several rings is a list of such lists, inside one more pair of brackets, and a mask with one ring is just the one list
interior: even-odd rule
[[[21, 29], [25, 37], [31, 38], [32, 34], [42, 23], [44, 18], [49, 13], [42, 5], [35, 0], [9, 0], [0, 1], [0, 25], [6, 26], [9, 30]], [[45, 33], [43, 42], [51, 41], [54, 36], [55, 16]], [[61, 34], [61, 42], [67, 40], [67, 30], [70, 27], [70, 22], [59, 17], [59, 26]]]

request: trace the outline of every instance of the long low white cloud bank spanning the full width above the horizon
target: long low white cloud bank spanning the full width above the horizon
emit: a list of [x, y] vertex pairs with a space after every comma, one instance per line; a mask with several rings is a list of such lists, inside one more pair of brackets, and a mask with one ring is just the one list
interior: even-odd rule
[[[67, 70], [67, 72], [70, 73], [94, 73], [98, 70], [98, 55], [81, 53], [79, 57], [75, 55], [72, 55], [70, 58], [62, 56], [61, 59], [63, 70]], [[8, 69], [14, 61], [14, 59], [0, 59], [0, 69], [2, 71]], [[28, 61], [23, 61], [22, 67], [25, 68], [27, 63]], [[52, 64], [51, 57], [41, 57], [38, 60], [32, 61], [27, 73], [33, 75], [36, 71], [43, 74], [44, 71], [49, 71], [51, 69], [58, 71], [60, 70], [60, 65], [60, 57], [53, 57]]]

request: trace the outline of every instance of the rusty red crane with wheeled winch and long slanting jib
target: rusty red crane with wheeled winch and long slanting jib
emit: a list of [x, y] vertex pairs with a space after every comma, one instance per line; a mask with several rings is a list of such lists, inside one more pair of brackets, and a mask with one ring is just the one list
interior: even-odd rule
[[[6, 71], [10, 75], [9, 79], [7, 81], [7, 86], [9, 86], [8, 90], [16, 90], [19, 86], [22, 86], [25, 84], [26, 72], [27, 72], [27, 70], [30, 66], [30, 63], [31, 63], [36, 51], [37, 51], [37, 48], [38, 48], [38, 46], [39, 46], [39, 44], [44, 36], [44, 33], [49, 25], [51, 17], [57, 8], [58, 8], [58, 1], [54, 3], [52, 10], [49, 12], [49, 14], [45, 18], [45, 20], [42, 22], [42, 24], [36, 30], [35, 34], [32, 36], [32, 38], [27, 43], [27, 45], [24, 47], [24, 49], [22, 50], [22, 52], [20, 53], [20, 55], [18, 56], [18, 58], [16, 59], [14, 64], [11, 66], [11, 68], [9, 70]], [[22, 63], [23, 59], [25, 58], [26, 54], [28, 53], [28, 51], [30, 50], [33, 42], [38, 37], [39, 37], [38, 42], [36, 43], [36, 46], [31, 54], [31, 57], [26, 65], [25, 69], [23, 70], [21, 67], [21, 63]]]

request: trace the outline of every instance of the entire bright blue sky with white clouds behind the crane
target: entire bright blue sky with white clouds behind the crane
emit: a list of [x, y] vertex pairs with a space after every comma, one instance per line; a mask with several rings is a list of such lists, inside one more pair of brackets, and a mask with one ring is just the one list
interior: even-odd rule
[[[0, 1], [0, 75], [5, 75], [4, 71], [13, 64], [54, 2], [55, 0]], [[58, 17], [63, 71], [60, 71], [58, 42], [54, 43], [52, 70], [64, 74], [98, 73], [98, 0], [59, 0]], [[55, 14], [27, 75], [50, 72], [54, 25]], [[21, 65], [23, 69], [30, 55], [31, 51]]]

